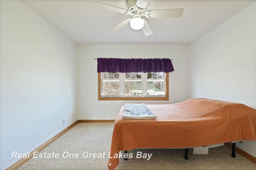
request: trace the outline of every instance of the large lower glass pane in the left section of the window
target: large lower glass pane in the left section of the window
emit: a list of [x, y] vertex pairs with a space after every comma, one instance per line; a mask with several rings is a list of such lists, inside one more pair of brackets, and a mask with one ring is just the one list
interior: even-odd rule
[[119, 95], [119, 81], [103, 81], [103, 95]]

